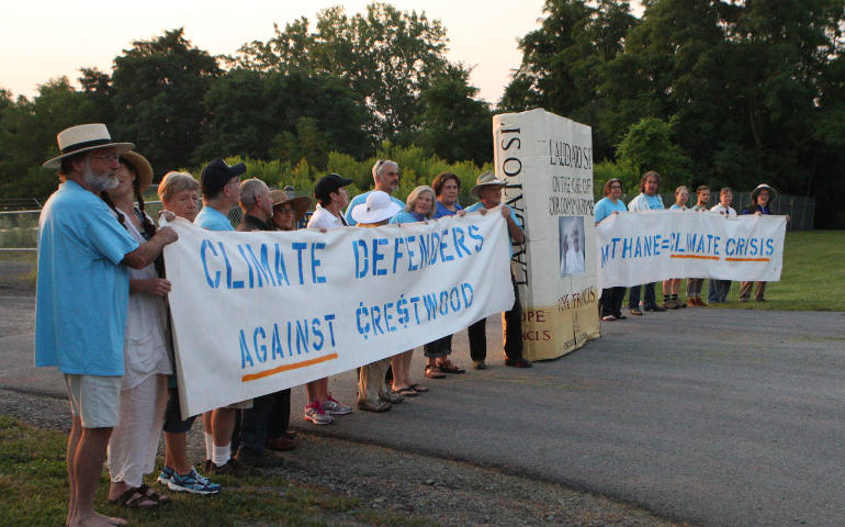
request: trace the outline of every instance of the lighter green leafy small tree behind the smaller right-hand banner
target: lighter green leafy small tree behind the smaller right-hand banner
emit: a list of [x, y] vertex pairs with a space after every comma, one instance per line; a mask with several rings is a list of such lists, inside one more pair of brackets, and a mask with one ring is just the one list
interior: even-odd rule
[[689, 180], [689, 159], [673, 142], [675, 121], [666, 123], [656, 117], [643, 117], [630, 127], [617, 150], [622, 165], [638, 171], [656, 170], [662, 187], [674, 188]]

